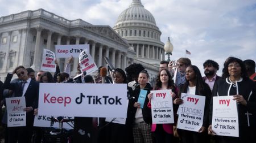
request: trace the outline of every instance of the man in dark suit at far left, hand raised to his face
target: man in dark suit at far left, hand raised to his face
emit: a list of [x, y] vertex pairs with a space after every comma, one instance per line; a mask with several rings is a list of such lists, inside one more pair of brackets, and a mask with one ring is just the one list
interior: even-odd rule
[[[16, 73], [22, 82], [10, 83]], [[9, 127], [9, 142], [30, 142], [32, 127], [34, 123], [34, 109], [38, 107], [39, 83], [31, 80], [27, 75], [27, 70], [23, 66], [15, 68], [13, 73], [8, 73], [3, 87], [14, 91], [14, 97], [24, 96], [26, 99], [27, 112], [26, 127]]]

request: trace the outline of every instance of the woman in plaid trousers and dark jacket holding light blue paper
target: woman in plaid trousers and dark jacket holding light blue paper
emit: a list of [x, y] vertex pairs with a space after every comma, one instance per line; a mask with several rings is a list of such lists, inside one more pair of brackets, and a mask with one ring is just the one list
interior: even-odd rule
[[129, 107], [133, 119], [133, 136], [134, 143], [152, 142], [151, 127], [151, 110], [147, 107], [147, 94], [152, 87], [148, 82], [148, 73], [146, 70], [139, 72], [138, 83], [134, 89], [134, 99], [130, 99]]

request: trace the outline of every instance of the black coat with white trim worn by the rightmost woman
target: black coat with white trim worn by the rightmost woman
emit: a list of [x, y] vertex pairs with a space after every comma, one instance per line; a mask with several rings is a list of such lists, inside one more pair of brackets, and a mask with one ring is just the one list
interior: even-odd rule
[[[247, 105], [237, 104], [239, 137], [217, 136], [218, 142], [255, 142], [256, 126], [256, 90], [255, 84], [249, 78], [238, 81], [238, 94], [247, 101]], [[237, 94], [236, 86], [228, 78], [217, 81], [213, 88], [213, 96], [234, 96]], [[252, 115], [247, 116], [249, 112]], [[249, 119], [247, 119], [247, 117]], [[249, 120], [249, 122], [248, 122]], [[212, 122], [212, 101], [210, 102], [210, 123]], [[250, 125], [250, 127], [249, 127]]]

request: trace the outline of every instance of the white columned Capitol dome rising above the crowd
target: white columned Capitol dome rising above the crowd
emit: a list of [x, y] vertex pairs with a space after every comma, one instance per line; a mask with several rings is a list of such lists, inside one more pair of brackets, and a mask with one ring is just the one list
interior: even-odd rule
[[113, 29], [134, 47], [136, 60], [152, 65], [159, 65], [160, 60], [164, 60], [164, 44], [160, 41], [162, 33], [154, 16], [144, 8], [141, 0], [133, 0], [121, 12]]

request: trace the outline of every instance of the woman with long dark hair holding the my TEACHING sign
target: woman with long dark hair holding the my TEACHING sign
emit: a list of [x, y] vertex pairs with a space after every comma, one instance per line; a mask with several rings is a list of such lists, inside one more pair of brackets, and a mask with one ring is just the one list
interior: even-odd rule
[[[207, 134], [207, 127], [209, 125], [209, 103], [210, 103], [210, 97], [211, 97], [212, 92], [210, 91], [209, 86], [206, 83], [204, 83], [199, 68], [191, 65], [191, 66], [187, 67], [185, 72], [186, 72], [185, 83], [180, 86], [180, 91], [179, 91], [178, 97], [174, 100], [174, 104], [180, 105], [183, 103], [183, 99], [181, 99], [181, 93], [187, 93], [187, 94], [192, 94], [192, 95], [197, 95], [197, 96], [204, 96], [205, 103], [204, 103], [203, 125], [200, 127], [199, 131], [197, 131], [197, 132], [188, 131], [185, 129], [177, 129], [177, 131], [179, 133], [182, 143], [209, 142], [209, 137]], [[191, 97], [191, 99], [192, 98], [193, 97]], [[193, 99], [195, 99], [195, 101], [196, 101], [196, 97]], [[194, 100], [192, 100], [192, 101], [194, 101]], [[186, 112], [186, 111], [184, 111], [184, 112], [185, 112], [184, 115], [192, 116], [191, 120], [193, 119], [193, 115], [196, 115], [195, 113], [189, 114], [189, 112]], [[180, 114], [181, 114], [181, 111], [179, 112], [179, 115]], [[188, 118], [188, 120], [189, 120], [189, 118]], [[179, 128], [179, 123], [180, 123], [179, 121], [180, 120], [178, 120], [178, 122], [177, 122], [177, 124], [178, 124], [177, 128]]]

